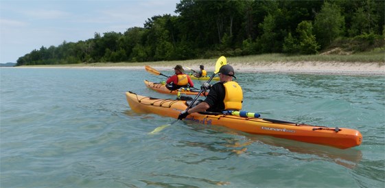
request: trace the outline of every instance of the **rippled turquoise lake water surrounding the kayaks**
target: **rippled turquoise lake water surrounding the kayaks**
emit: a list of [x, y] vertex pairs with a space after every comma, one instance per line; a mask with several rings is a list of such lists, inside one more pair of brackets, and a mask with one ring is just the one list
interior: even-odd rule
[[[162, 72], [171, 75], [171, 71]], [[384, 187], [385, 77], [237, 73], [244, 110], [360, 130], [348, 150], [134, 113], [143, 70], [1, 68], [0, 187]], [[199, 86], [199, 82], [195, 82]]]

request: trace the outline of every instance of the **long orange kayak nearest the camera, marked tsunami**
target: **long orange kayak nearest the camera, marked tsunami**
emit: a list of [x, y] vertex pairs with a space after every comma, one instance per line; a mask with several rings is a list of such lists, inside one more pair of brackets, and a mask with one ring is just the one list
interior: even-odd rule
[[[189, 102], [145, 97], [130, 91], [126, 92], [126, 97], [130, 108], [137, 113], [154, 113], [173, 118], [178, 118], [180, 112], [187, 108]], [[250, 134], [262, 134], [340, 149], [352, 148], [362, 143], [362, 134], [358, 130], [349, 128], [328, 128], [222, 113], [192, 113], [184, 120], [194, 121], [196, 124], [202, 124], [202, 126], [224, 126]]]

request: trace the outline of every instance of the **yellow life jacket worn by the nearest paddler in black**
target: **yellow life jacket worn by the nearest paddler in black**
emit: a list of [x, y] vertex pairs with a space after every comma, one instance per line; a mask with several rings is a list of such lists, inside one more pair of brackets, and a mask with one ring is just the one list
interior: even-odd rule
[[224, 86], [224, 109], [225, 110], [241, 110], [243, 92], [241, 86], [234, 81], [226, 82]]

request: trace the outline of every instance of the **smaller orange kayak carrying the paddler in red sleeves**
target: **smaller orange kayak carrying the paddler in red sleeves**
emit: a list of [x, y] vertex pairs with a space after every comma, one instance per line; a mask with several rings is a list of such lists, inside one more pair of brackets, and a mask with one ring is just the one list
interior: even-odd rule
[[[187, 89], [187, 88], [180, 88], [174, 91], [170, 91], [167, 89], [165, 84], [162, 83], [154, 83], [150, 82], [148, 80], [144, 80], [145, 86], [147, 86], [149, 89], [153, 89], [154, 91], [157, 91], [159, 93], [165, 93], [165, 94], [171, 94], [171, 95], [178, 95], [179, 94], [185, 94], [185, 95], [198, 95], [199, 90], [194, 89]], [[202, 92], [200, 93], [200, 96], [205, 96], [209, 94], [209, 92]]]

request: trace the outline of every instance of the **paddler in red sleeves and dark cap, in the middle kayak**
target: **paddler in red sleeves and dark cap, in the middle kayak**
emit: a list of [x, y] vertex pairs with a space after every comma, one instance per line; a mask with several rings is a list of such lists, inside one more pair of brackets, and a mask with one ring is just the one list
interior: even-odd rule
[[166, 80], [167, 89], [174, 91], [176, 89], [180, 89], [181, 87], [194, 87], [194, 82], [191, 81], [189, 75], [183, 73], [185, 69], [183, 69], [182, 65], [177, 64], [174, 67], [174, 71], [175, 74]]

